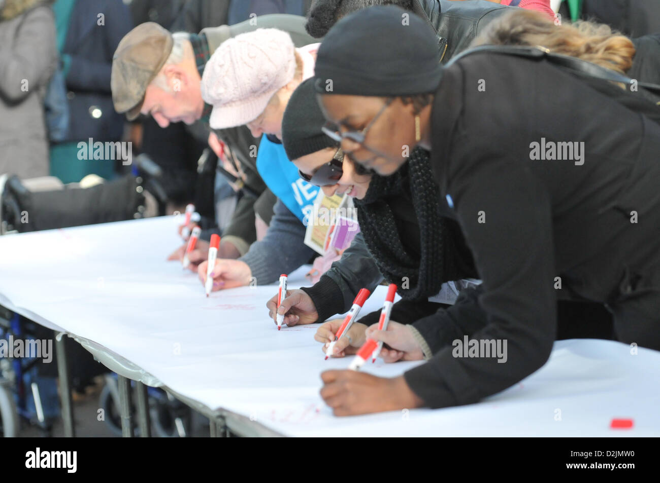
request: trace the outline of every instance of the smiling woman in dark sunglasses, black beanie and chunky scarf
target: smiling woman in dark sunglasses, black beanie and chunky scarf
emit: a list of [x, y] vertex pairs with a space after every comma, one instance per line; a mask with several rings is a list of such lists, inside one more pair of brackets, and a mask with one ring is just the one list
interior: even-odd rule
[[[372, 175], [343, 159], [339, 143], [321, 131], [324, 122], [314, 79], [308, 79], [292, 94], [284, 112], [284, 149], [300, 176], [321, 186], [326, 196], [348, 194], [353, 198], [361, 233], [314, 287], [289, 291], [279, 308], [284, 323], [323, 322], [346, 312], [360, 289], [373, 291], [383, 277], [399, 285], [402, 297], [392, 309], [393, 320], [414, 322], [446, 307], [429, 298], [438, 295], [447, 281], [476, 277], [477, 273], [457, 223], [440, 216], [446, 206], [439, 203], [428, 153], [414, 150], [409, 169], [398, 176]], [[273, 320], [277, 302], [277, 295], [267, 302]], [[335, 346], [337, 356], [359, 349], [366, 327], [379, 317], [380, 310], [354, 324], [350, 338], [342, 338]], [[327, 342], [341, 322], [323, 324], [315, 339]]]

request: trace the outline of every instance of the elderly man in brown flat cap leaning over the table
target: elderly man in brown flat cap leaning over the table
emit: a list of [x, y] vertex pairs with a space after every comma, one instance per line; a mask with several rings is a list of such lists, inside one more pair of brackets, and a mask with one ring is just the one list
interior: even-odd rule
[[[153, 22], [131, 30], [119, 43], [112, 64], [112, 99], [115, 109], [129, 120], [140, 114], [152, 115], [161, 127], [183, 121], [208, 132], [211, 106], [201, 97], [200, 82], [207, 61], [229, 38], [257, 28], [279, 28], [287, 32], [294, 44], [314, 42], [305, 32], [306, 19], [289, 14], [270, 14], [250, 18], [232, 26], [205, 28], [199, 34], [172, 34]], [[197, 129], [196, 129], [197, 130]], [[218, 152], [215, 134], [224, 147]], [[230, 225], [222, 234], [219, 256], [237, 258], [248, 252], [255, 241], [255, 204], [272, 200], [255, 164], [259, 141], [245, 127], [217, 130], [209, 136], [219, 157], [226, 157], [259, 199], [244, 194], [240, 198]], [[210, 233], [208, 234], [210, 236]], [[206, 250], [203, 243], [198, 255]], [[193, 260], [191, 260], [193, 261]], [[195, 260], [197, 262], [201, 260]]]

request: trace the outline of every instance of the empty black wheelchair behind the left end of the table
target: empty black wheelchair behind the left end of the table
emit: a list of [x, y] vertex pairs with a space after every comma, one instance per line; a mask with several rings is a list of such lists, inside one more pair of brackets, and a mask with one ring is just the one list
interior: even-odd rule
[[[160, 167], [145, 154], [134, 161], [131, 174], [112, 181], [90, 175], [81, 183], [63, 185], [54, 177], [20, 180], [0, 174], [0, 235], [165, 215], [168, 196], [160, 183]], [[38, 339], [43, 331], [0, 306], [0, 338]], [[54, 374], [40, 374], [39, 362], [0, 357], [0, 436], [16, 436], [22, 422], [51, 436], [53, 420], [59, 417], [57, 386]], [[162, 412], [161, 397], [154, 406]], [[167, 426], [157, 433], [172, 435], [174, 430]]]

